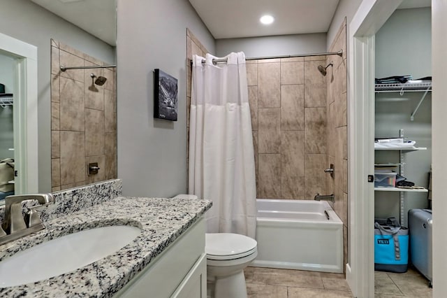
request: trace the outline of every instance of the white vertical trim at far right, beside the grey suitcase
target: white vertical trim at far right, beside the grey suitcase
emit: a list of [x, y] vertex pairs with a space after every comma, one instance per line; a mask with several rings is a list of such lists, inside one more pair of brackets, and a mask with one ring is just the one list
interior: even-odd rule
[[[433, 297], [447, 293], [446, 52], [447, 0], [432, 0], [432, 201]], [[436, 260], [436, 261], [435, 261]]]

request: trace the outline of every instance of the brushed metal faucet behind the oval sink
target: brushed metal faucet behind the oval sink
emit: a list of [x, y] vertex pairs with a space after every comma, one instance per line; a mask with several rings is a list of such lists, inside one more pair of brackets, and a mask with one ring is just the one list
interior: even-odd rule
[[[36, 200], [40, 205], [29, 208], [23, 217], [22, 201], [28, 200]], [[52, 194], [20, 194], [6, 197], [3, 229], [0, 228], [0, 245], [45, 229], [35, 209], [52, 203]]]

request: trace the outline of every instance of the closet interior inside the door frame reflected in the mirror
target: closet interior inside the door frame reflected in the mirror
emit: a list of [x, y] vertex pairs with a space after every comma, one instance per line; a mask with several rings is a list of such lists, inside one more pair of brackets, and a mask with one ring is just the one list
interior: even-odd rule
[[15, 59], [0, 53], [0, 200], [14, 194]]

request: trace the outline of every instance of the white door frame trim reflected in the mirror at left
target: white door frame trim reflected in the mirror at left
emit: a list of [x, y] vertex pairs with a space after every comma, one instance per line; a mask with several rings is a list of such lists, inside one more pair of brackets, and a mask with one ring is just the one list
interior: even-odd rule
[[38, 192], [37, 48], [0, 34], [0, 50], [17, 62], [13, 122], [19, 176], [15, 177], [15, 193]]

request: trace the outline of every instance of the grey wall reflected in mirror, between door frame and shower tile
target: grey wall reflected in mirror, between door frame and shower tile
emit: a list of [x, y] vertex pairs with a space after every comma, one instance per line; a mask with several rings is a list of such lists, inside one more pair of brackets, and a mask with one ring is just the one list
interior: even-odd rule
[[0, 7], [0, 32], [38, 48], [39, 192], [50, 192], [50, 38], [110, 63], [115, 48], [29, 0], [0, 0]]

